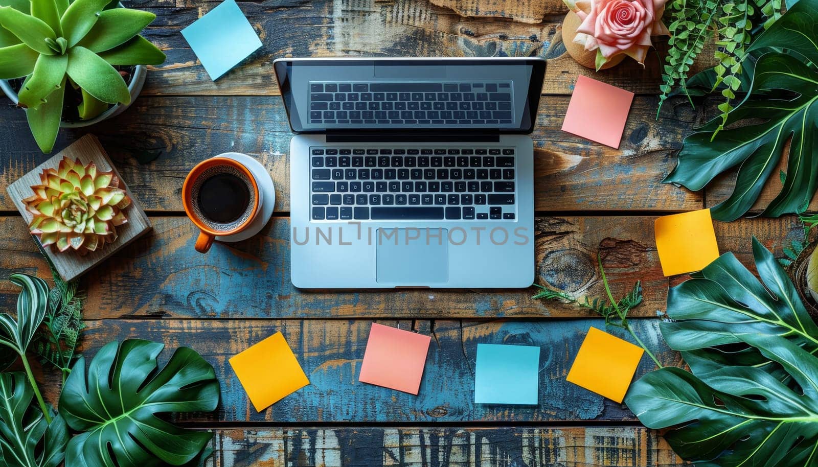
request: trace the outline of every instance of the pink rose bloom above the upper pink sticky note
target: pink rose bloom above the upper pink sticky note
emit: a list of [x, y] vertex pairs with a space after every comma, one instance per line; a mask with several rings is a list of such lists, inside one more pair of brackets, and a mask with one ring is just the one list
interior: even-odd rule
[[666, 0], [566, 0], [582, 25], [577, 28], [586, 50], [600, 49], [609, 59], [619, 53], [644, 63], [650, 36], [668, 34], [662, 24]]

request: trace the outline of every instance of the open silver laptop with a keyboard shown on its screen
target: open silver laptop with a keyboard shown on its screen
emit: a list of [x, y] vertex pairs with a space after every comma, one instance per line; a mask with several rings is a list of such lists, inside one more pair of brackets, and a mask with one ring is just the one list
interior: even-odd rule
[[537, 58], [273, 62], [290, 128], [293, 285], [534, 278]]

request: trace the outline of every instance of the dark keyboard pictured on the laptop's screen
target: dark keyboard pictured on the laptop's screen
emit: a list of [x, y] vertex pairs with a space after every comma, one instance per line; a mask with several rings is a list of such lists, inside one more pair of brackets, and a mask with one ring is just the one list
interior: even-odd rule
[[510, 124], [511, 82], [310, 82], [310, 123]]

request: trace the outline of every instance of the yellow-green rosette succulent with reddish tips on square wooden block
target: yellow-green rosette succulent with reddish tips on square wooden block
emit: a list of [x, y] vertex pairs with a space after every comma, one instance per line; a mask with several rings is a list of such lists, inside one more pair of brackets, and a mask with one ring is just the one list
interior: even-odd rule
[[88, 254], [115, 241], [116, 227], [128, 222], [123, 209], [131, 199], [119, 188], [113, 171], [64, 158], [58, 168], [43, 170], [40, 181], [31, 187], [34, 196], [23, 202], [34, 214], [29, 231], [43, 247], [55, 245], [61, 252], [74, 249]]

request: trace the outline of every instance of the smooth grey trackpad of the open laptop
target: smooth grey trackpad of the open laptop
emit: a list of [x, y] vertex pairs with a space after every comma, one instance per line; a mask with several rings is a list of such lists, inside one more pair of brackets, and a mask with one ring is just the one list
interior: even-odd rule
[[[382, 284], [443, 284], [449, 280], [447, 229], [378, 229], [375, 278]], [[439, 236], [438, 236], [439, 234]]]

